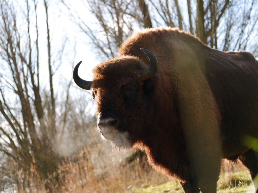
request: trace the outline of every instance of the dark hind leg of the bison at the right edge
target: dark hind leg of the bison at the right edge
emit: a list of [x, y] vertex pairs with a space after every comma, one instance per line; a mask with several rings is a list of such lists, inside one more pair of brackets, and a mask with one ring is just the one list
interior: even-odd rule
[[249, 149], [238, 158], [247, 167], [255, 191], [258, 192], [258, 152]]

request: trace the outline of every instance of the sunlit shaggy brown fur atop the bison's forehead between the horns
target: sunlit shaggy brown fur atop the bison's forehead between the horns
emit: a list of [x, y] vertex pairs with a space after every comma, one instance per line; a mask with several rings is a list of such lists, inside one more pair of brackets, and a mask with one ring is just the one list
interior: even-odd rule
[[93, 68], [93, 80], [117, 79], [118, 76], [134, 77], [134, 70], [144, 68], [146, 68], [146, 64], [144, 64], [138, 57], [115, 57], [113, 59], [102, 62]]

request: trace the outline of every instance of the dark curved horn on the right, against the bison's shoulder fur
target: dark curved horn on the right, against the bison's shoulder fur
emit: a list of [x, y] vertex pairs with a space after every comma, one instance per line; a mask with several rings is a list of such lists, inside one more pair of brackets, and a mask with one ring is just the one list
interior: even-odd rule
[[150, 66], [143, 69], [143, 70], [136, 70], [135, 73], [141, 81], [144, 81], [144, 80], [149, 79], [150, 77], [152, 77], [153, 75], [156, 74], [156, 72], [158, 70], [158, 60], [155, 57], [155, 55], [153, 53], [151, 53], [150, 51], [148, 51], [147, 49], [141, 48], [141, 50], [150, 59]]

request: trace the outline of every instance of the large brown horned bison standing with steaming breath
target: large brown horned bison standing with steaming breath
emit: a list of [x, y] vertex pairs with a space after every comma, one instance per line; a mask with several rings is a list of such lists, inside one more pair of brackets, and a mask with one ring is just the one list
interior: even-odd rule
[[81, 62], [73, 71], [95, 99], [102, 138], [144, 151], [185, 192], [216, 192], [222, 158], [240, 160], [255, 178], [258, 153], [242, 143], [258, 138], [251, 53], [218, 51], [172, 28], [134, 32], [118, 52], [93, 68], [91, 81], [78, 76]]

